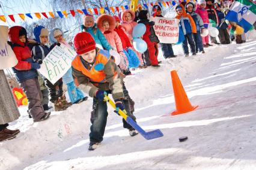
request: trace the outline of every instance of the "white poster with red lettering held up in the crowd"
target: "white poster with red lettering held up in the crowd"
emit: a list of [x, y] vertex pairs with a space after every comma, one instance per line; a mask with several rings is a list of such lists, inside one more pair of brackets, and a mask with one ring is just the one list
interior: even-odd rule
[[161, 43], [175, 44], [178, 42], [178, 19], [151, 17], [154, 22], [154, 32]]

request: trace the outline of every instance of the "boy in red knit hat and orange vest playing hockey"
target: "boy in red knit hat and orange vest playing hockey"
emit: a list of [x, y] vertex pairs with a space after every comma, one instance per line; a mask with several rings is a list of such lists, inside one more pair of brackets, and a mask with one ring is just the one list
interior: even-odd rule
[[[75, 82], [79, 89], [93, 98], [88, 150], [94, 150], [103, 141], [108, 117], [108, 108], [103, 101], [105, 92], [112, 94], [117, 110], [126, 110], [127, 115], [133, 120], [136, 120], [136, 117], [129, 108], [130, 96], [124, 86], [121, 71], [108, 51], [96, 48], [93, 37], [87, 32], [77, 34], [74, 45], [78, 53], [72, 62]], [[130, 136], [138, 134], [124, 119], [123, 127], [129, 129]]]

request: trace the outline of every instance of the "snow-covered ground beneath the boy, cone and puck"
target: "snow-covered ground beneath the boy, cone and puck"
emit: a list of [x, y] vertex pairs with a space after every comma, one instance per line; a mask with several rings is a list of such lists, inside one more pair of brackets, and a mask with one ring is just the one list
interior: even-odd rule
[[[32, 123], [26, 107], [10, 129], [16, 139], [0, 143], [0, 169], [255, 169], [256, 37], [244, 44], [216, 45], [206, 54], [164, 60], [160, 68], [135, 71], [125, 79], [144, 130], [160, 129], [162, 138], [130, 137], [121, 117], [109, 107], [105, 138], [88, 151], [92, 100], [53, 112]], [[197, 110], [175, 110], [170, 71], [177, 70]], [[179, 142], [180, 136], [188, 136]]]

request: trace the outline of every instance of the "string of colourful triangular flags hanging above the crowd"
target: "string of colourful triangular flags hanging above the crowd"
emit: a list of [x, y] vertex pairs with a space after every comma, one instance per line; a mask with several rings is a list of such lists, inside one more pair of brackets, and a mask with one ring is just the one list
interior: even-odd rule
[[[184, 2], [189, 2], [190, 0], [183, 0]], [[196, 0], [194, 0], [195, 2]], [[174, 6], [175, 4], [179, 4], [181, 1], [180, 0], [172, 0], [172, 1], [163, 1], [163, 2], [151, 2], [151, 3], [147, 3], [147, 4], [138, 4], [138, 8], [146, 8], [148, 9], [150, 6], [153, 7], [153, 5], [160, 5], [160, 7], [170, 7], [170, 6]], [[104, 14], [105, 11], [108, 11], [109, 13], [112, 11], [112, 13], [115, 13], [115, 11], [117, 11], [118, 13], [120, 12], [120, 8], [121, 10], [128, 10], [129, 7], [128, 5], [121, 5], [120, 7], [110, 7], [110, 9], [108, 7], [100, 7], [100, 8], [88, 8], [87, 10], [69, 10], [69, 11], [50, 11], [50, 12], [43, 12], [43, 13], [26, 13], [26, 14], [10, 14], [8, 15], [8, 17], [15, 23], [15, 18], [14, 16], [19, 16], [20, 19], [22, 19], [23, 21], [25, 21], [26, 17], [29, 17], [30, 19], [33, 19], [34, 17], [36, 17], [37, 19], [41, 19], [42, 16], [46, 19], [49, 19], [49, 17], [52, 17], [53, 19], [55, 19], [56, 14], [58, 14], [59, 17], [62, 18], [67, 18], [68, 14], [71, 14], [73, 17], [75, 17], [76, 12], [78, 12], [79, 14]], [[32, 15], [33, 14], [33, 15]], [[34, 16], [34, 17], [33, 17]], [[2, 22], [6, 22], [7, 16], [4, 15], [0, 15], [0, 20]]]

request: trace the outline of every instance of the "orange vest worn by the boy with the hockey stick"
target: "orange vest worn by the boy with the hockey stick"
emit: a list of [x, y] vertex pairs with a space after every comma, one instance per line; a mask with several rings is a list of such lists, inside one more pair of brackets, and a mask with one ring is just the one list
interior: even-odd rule
[[[92, 83], [106, 83], [105, 72], [103, 70], [97, 71], [94, 67], [97, 65], [97, 63], [102, 63], [105, 66], [110, 57], [111, 55], [108, 53], [108, 51], [99, 50], [97, 51], [96, 60], [90, 69], [85, 68], [80, 56], [75, 57], [75, 59], [72, 62], [72, 66], [76, 70], [81, 71], [82, 74], [86, 75]], [[117, 75], [116, 71], [114, 75]]]

